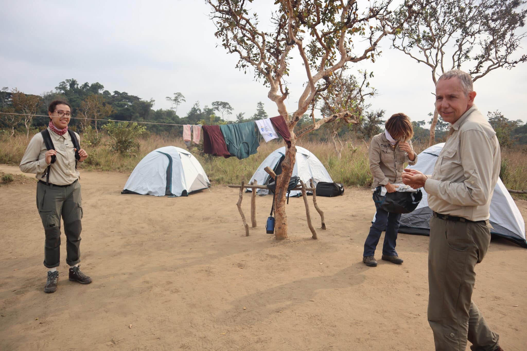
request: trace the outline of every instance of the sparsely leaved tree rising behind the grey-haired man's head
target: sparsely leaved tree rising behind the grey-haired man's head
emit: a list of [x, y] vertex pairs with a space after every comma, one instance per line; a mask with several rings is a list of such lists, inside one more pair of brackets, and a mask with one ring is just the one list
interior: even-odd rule
[[[450, 69], [465, 69], [473, 81], [497, 68], [511, 69], [525, 62], [516, 52], [526, 33], [527, 9], [522, 0], [433, 0], [393, 37], [393, 47], [431, 68], [432, 81]], [[411, 3], [402, 4], [396, 23], [414, 13]], [[515, 55], [516, 54], [516, 55]], [[437, 110], [430, 127], [430, 145], [435, 142]]]

